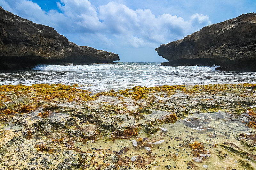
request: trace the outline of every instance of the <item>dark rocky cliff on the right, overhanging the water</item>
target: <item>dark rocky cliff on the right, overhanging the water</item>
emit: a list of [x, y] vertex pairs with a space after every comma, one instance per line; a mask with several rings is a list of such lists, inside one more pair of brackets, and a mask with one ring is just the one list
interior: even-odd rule
[[256, 71], [256, 14], [203, 27], [156, 51], [169, 60], [162, 65], [219, 65], [218, 70]]

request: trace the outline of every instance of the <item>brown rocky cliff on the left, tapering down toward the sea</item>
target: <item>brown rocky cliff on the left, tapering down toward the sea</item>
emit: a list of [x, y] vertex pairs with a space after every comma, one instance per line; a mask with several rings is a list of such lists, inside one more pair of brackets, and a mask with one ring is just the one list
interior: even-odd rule
[[78, 46], [54, 28], [20, 18], [0, 6], [0, 70], [39, 63], [110, 63], [117, 54]]

